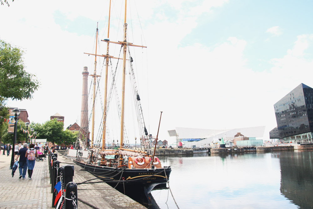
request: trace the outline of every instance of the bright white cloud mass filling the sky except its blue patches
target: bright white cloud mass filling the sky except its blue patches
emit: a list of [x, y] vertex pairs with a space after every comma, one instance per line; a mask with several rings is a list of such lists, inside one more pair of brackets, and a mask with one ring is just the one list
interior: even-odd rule
[[[274, 103], [300, 83], [311, 84], [313, 63], [305, 52], [312, 46], [312, 34], [299, 35], [294, 46], [285, 55], [272, 59], [273, 67], [262, 72], [247, 67], [249, 60], [245, 54], [248, 53], [249, 42], [243, 38], [232, 35], [215, 45], [195, 43], [181, 47], [182, 39], [191, 34], [197, 25], [196, 8], [201, 14], [227, 3], [218, 2], [211, 4], [203, 1], [201, 7], [195, 4], [184, 8], [186, 13], [183, 12], [183, 2], [136, 2], [141, 21], [144, 20], [141, 24], [145, 26], [145, 37], [132, 37], [137, 34], [136, 31], [141, 31], [139, 24], [132, 29], [129, 27], [129, 37], [134, 44], [147, 42], [143, 44], [148, 46], [148, 58], [143, 56], [142, 52], [146, 50], [141, 48], [137, 49], [133, 58], [135, 62], [144, 61], [144, 64], [137, 62], [136, 70], [145, 71], [140, 74], [139, 83], [143, 87], [141, 94], [146, 96], [141, 98], [145, 116], [150, 118], [153, 135], [156, 135], [159, 111], [163, 111], [159, 133], [161, 139], [167, 139], [166, 131], [175, 127], [223, 129], [266, 125], [267, 136], [268, 131], [276, 126]], [[42, 1], [14, 2], [9, 8], [3, 7], [0, 13], [0, 17], [6, 19], [1, 25], [0, 38], [25, 49], [26, 70], [36, 74], [42, 82], [33, 100], [9, 103], [10, 106], [26, 108], [29, 119], [34, 122], [42, 123], [56, 112], [65, 116], [65, 126], [77, 119], [79, 121], [81, 72], [83, 66], [88, 66], [90, 71], [93, 69], [91, 56], [83, 53], [93, 53], [94, 37], [62, 31], [54, 23], [53, 15], [60, 10], [69, 19], [80, 15], [94, 20], [102, 17], [102, 22], [105, 16], [103, 8], [95, 8], [92, 3], [71, 3], [54, 2], [47, 5]], [[112, 41], [121, 40], [121, 31], [117, 34], [113, 24], [119, 20], [118, 11], [121, 11], [118, 2], [115, 3], [114, 8], [118, 10], [111, 11]], [[163, 11], [154, 10], [167, 3], [179, 11], [177, 20], [168, 21], [170, 17], [164, 17]], [[72, 7], [74, 4], [75, 8]], [[204, 4], [210, 5], [204, 7]], [[134, 2], [129, 5], [135, 6]], [[136, 16], [136, 9], [128, 13], [133, 25], [137, 21]], [[131, 23], [128, 23], [130, 26]], [[278, 26], [267, 30], [273, 35], [281, 34], [280, 31]], [[103, 34], [106, 36], [106, 33]], [[105, 47], [102, 46], [102, 49]], [[111, 55], [118, 55], [119, 50], [119, 47], [110, 45]], [[105, 52], [102, 51], [102, 54]], [[149, 79], [146, 79], [146, 74]], [[142, 91], [148, 82], [149, 94]], [[289, 85], [286, 86], [286, 83]], [[149, 107], [144, 103], [148, 95]], [[47, 110], [38, 113], [38, 107], [46, 107]]]

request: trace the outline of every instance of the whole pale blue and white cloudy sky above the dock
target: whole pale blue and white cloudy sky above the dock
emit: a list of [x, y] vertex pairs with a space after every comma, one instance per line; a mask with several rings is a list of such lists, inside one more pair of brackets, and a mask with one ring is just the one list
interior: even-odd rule
[[[161, 140], [175, 127], [254, 126], [265, 126], [268, 139], [277, 126], [274, 104], [300, 83], [313, 87], [312, 6], [306, 0], [129, 1], [127, 40], [147, 46], [131, 52], [148, 132], [157, 134], [163, 111]], [[111, 3], [111, 41], [123, 39], [123, 10], [122, 1]], [[99, 38], [107, 37], [108, 13], [109, 0], [0, 6], [0, 39], [24, 50], [25, 70], [41, 82], [31, 100], [8, 106], [27, 109], [35, 123], [55, 113], [65, 117], [64, 127], [80, 123], [81, 72], [87, 66], [92, 74], [95, 61], [84, 52], [95, 53], [97, 22]], [[106, 43], [98, 43], [97, 54], [106, 54]], [[120, 46], [110, 44], [109, 51], [119, 56]]]

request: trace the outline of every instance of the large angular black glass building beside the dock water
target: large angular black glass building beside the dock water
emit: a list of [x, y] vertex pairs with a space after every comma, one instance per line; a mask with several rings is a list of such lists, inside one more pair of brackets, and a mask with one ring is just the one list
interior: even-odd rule
[[301, 83], [274, 105], [278, 134], [285, 142], [313, 144], [313, 89]]

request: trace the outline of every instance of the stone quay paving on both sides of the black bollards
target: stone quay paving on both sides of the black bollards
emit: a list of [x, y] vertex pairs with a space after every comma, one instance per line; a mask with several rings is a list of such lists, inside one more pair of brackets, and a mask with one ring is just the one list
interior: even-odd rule
[[[36, 161], [31, 181], [26, 179], [18, 179], [19, 171], [16, 170], [12, 178], [12, 170], [9, 170], [11, 154], [0, 155], [0, 208], [16, 208], [16, 209], [48, 209], [52, 208], [52, 193], [49, 178], [48, 158], [44, 161]], [[72, 161], [58, 156], [60, 166], [72, 165]], [[95, 178], [86, 171], [81, 171], [78, 165], [74, 165], [74, 182], [83, 182]], [[99, 180], [93, 180], [99, 181]], [[105, 182], [96, 184], [83, 184], [78, 186], [78, 197], [89, 204], [98, 208], [136, 208], [144, 209], [146, 207], [132, 200], [128, 196], [116, 191]], [[92, 208], [78, 201], [78, 208]]]

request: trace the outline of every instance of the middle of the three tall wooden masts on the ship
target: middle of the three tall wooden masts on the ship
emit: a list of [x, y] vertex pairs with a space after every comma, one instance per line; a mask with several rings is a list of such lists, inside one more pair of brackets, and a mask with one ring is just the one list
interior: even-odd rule
[[[110, 13], [111, 13], [111, 0], [109, 7], [109, 24], [108, 24], [108, 38], [110, 32]], [[108, 65], [109, 65], [109, 42], [106, 43], [106, 65], [105, 65], [105, 89], [104, 89], [104, 112], [103, 112], [103, 130], [102, 130], [102, 150], [105, 149], [105, 125], [106, 125], [106, 94], [108, 86]]]

